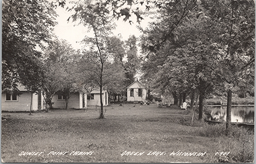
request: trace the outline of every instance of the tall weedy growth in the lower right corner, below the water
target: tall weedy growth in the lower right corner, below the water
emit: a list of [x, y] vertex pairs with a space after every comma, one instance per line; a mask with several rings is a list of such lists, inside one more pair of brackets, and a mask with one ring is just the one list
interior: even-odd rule
[[[228, 156], [215, 156], [216, 163], [254, 162], [254, 132], [246, 128], [232, 126], [226, 136], [225, 124], [206, 125], [195, 131], [198, 136], [214, 137], [216, 151], [230, 152]], [[230, 140], [232, 139], [232, 140]], [[227, 142], [228, 141], [228, 142]]]

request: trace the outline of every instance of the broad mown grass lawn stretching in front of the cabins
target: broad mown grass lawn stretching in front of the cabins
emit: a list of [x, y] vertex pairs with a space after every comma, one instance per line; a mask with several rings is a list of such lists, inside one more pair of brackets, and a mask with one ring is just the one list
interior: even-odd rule
[[[104, 107], [104, 119], [98, 119], [98, 110], [99, 107], [89, 107], [86, 111], [50, 110], [33, 115], [3, 112], [2, 117], [7, 119], [2, 120], [2, 160], [215, 163], [220, 159], [217, 152], [230, 152], [228, 156], [236, 153], [231, 144], [226, 144], [233, 143], [232, 137], [201, 135], [199, 131], [204, 127], [182, 124], [182, 120], [191, 117], [188, 110], [156, 108], [154, 104], [111, 105]], [[35, 153], [26, 155], [27, 152]], [[177, 154], [170, 155], [172, 152]], [[204, 154], [196, 156], [194, 152]]]

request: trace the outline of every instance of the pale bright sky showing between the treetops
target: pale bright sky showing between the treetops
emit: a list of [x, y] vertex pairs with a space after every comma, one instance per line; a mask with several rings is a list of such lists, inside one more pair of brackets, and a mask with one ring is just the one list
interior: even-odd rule
[[[72, 7], [72, 4], [69, 3], [70, 0], [66, 1], [66, 5]], [[67, 40], [72, 44], [74, 49], [81, 49], [82, 45], [79, 43], [85, 36], [91, 36], [92, 33], [88, 33], [87, 28], [83, 25], [78, 25], [78, 22], [72, 22], [72, 19], [68, 22], [68, 18], [72, 15], [72, 12], [66, 11], [66, 7], [57, 7], [56, 12], [59, 17], [56, 18], [58, 24], [55, 27], [55, 34], [57, 37]], [[123, 40], [127, 40], [129, 36], [135, 35], [136, 37], [140, 36], [140, 31], [136, 28], [136, 25], [139, 25], [136, 22], [135, 15], [132, 15], [131, 20], [134, 24], [130, 25], [128, 21], [124, 22], [123, 18], [116, 20], [116, 30], [113, 31], [115, 36], [121, 34]], [[149, 18], [145, 18], [140, 22], [140, 26], [145, 28], [148, 25]]]

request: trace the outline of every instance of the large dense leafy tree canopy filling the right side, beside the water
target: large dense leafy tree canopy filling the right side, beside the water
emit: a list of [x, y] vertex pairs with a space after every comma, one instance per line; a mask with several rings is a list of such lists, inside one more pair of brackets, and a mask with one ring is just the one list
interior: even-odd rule
[[254, 5], [206, 0], [185, 3], [180, 11], [176, 6], [182, 2], [161, 7], [157, 21], [143, 31], [144, 78], [162, 93], [198, 92], [202, 118], [203, 99], [213, 89], [231, 96], [235, 89], [253, 87]]

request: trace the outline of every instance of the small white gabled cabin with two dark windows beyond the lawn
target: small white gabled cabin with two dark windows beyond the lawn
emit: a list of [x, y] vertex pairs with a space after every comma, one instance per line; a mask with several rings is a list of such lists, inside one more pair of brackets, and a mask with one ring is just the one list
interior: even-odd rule
[[135, 81], [127, 86], [127, 101], [145, 101], [147, 89], [142, 83]]

